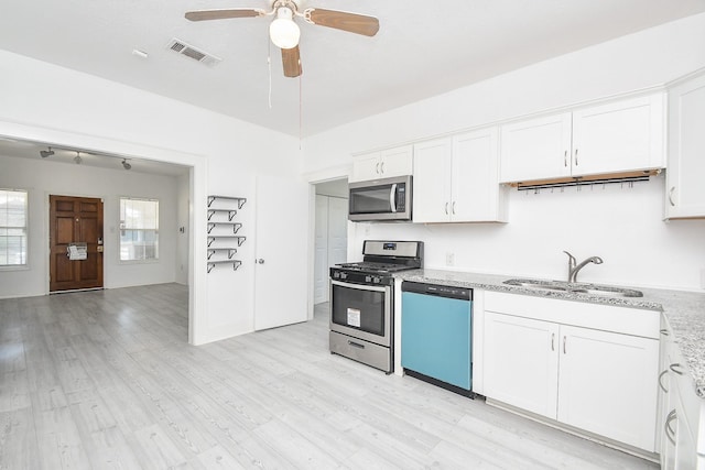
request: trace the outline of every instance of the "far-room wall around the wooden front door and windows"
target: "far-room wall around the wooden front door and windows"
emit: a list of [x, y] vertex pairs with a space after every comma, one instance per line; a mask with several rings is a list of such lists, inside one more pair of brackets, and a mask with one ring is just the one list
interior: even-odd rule
[[[29, 269], [0, 271], [0, 297], [43, 295], [48, 291], [48, 195], [104, 199], [104, 285], [106, 288], [174, 282], [176, 261], [175, 177], [95, 168], [0, 155], [0, 187], [29, 192]], [[160, 258], [119, 261], [119, 198], [160, 201]]]

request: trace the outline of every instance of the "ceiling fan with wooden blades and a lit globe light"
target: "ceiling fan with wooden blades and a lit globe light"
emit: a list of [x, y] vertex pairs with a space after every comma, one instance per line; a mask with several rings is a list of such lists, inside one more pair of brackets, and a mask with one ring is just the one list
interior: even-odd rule
[[334, 28], [350, 33], [373, 36], [379, 31], [379, 20], [365, 14], [337, 10], [307, 8], [299, 11], [299, 0], [274, 0], [271, 11], [259, 8], [234, 8], [228, 10], [188, 11], [185, 17], [191, 21], [225, 20], [230, 18], [275, 17], [269, 26], [269, 35], [275, 46], [282, 50], [284, 76], [301, 75], [299, 39], [301, 31], [294, 18], [303, 18], [311, 24]]

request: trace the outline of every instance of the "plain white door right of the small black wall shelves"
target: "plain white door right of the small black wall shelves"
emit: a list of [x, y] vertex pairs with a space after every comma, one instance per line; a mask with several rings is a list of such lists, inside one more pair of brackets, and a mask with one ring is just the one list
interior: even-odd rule
[[260, 176], [256, 182], [254, 329], [307, 318], [308, 185]]

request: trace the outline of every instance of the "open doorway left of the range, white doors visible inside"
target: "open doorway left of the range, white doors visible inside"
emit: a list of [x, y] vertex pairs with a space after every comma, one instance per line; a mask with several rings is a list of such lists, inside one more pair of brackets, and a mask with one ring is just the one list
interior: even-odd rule
[[328, 269], [347, 261], [348, 181], [318, 183], [314, 260], [314, 305], [328, 302]]

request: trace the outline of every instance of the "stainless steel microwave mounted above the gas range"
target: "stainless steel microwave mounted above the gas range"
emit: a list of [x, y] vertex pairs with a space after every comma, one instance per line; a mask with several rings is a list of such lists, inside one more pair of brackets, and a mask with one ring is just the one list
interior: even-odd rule
[[411, 220], [411, 176], [399, 176], [350, 183], [348, 219]]

